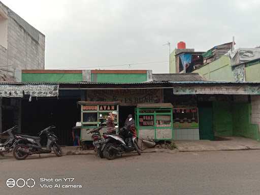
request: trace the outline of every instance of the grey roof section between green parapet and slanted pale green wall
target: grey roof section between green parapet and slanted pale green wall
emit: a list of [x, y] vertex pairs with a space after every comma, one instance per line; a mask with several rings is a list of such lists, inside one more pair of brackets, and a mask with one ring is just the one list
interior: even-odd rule
[[199, 73], [153, 74], [153, 81], [205, 81]]

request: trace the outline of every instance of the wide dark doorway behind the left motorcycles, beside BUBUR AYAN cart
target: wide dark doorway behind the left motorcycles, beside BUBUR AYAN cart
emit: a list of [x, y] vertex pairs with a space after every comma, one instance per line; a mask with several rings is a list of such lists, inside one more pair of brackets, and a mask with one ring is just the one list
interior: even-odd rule
[[54, 134], [60, 145], [73, 145], [72, 127], [80, 121], [79, 99], [22, 101], [22, 133], [37, 136], [42, 129], [55, 125]]

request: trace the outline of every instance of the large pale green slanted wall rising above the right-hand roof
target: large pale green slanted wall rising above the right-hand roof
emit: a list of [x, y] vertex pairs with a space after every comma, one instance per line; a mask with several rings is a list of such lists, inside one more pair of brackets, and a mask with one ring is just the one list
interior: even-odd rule
[[235, 81], [231, 70], [230, 59], [225, 55], [193, 71], [193, 73], [199, 73], [206, 79], [213, 81]]

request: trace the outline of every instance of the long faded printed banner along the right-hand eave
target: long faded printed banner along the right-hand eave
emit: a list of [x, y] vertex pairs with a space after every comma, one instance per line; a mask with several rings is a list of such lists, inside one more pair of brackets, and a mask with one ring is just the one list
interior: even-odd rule
[[175, 86], [173, 94], [250, 94], [259, 95], [260, 86], [228, 86], [228, 85], [214, 85], [214, 86]]

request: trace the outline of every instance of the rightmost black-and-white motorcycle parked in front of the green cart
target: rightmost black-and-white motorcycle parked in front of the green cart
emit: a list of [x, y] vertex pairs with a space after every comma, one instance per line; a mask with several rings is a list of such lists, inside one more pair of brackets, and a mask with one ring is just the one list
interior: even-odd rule
[[135, 131], [135, 123], [133, 118], [129, 118], [127, 124], [119, 131], [119, 135], [104, 133], [106, 139], [102, 145], [101, 151], [104, 156], [111, 160], [118, 154], [136, 151], [141, 155], [141, 150], [138, 148], [138, 138]]

